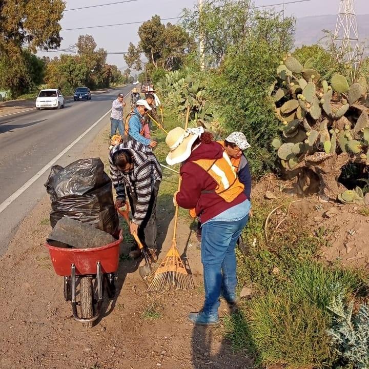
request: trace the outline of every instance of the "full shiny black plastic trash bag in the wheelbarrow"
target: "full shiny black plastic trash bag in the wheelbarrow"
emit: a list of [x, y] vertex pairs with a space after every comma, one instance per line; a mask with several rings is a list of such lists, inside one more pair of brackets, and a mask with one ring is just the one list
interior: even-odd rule
[[79, 159], [65, 168], [53, 166], [45, 187], [51, 199], [52, 228], [67, 216], [118, 236], [112, 181], [99, 158]]

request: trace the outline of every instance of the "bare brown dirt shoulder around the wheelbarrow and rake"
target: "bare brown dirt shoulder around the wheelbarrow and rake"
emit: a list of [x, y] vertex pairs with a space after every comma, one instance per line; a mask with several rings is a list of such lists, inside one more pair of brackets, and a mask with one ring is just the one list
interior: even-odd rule
[[[108, 127], [85, 151], [107, 160]], [[232, 353], [222, 327], [198, 328], [187, 321], [203, 301], [200, 252], [187, 221], [180, 221], [177, 244], [194, 274], [196, 288], [149, 295], [135, 261], [121, 257], [117, 294], [106, 299], [98, 323], [87, 329], [72, 318], [63, 298], [63, 278], [55, 275], [44, 240], [50, 232], [50, 200], [45, 196], [26, 217], [0, 262], [0, 368], [97, 369], [247, 368], [251, 360]], [[173, 211], [158, 208], [162, 258], [171, 245]], [[126, 240], [127, 241], [127, 240]], [[122, 247], [122, 255], [127, 252]], [[125, 261], [124, 261], [125, 260]], [[227, 314], [221, 305], [222, 314]]]

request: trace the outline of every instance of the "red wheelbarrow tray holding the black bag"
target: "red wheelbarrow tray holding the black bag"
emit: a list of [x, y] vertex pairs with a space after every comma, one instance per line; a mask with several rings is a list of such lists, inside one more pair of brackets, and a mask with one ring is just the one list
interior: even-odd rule
[[49, 249], [50, 258], [54, 266], [55, 273], [59, 276], [70, 276], [71, 265], [75, 265], [77, 275], [96, 274], [96, 263], [101, 263], [102, 273], [114, 273], [118, 269], [119, 263], [119, 238], [105, 246], [91, 249], [65, 249], [45, 246]]

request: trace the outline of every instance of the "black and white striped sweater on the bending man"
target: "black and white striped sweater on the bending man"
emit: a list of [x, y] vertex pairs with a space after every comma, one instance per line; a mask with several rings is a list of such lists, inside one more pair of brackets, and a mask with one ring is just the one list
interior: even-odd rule
[[[120, 150], [132, 153], [133, 171], [122, 173], [113, 163], [113, 154]], [[150, 198], [156, 181], [161, 181], [161, 168], [153, 152], [137, 141], [130, 140], [113, 147], [109, 153], [110, 176], [117, 199], [126, 199], [126, 188], [137, 197], [132, 221], [141, 224], [147, 214]]]

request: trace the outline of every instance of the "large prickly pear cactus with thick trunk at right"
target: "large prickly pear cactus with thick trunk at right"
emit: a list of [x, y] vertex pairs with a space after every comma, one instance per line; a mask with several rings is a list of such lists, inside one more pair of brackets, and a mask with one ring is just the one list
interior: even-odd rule
[[[359, 76], [350, 85], [340, 74], [321, 80], [318, 71], [304, 69], [290, 54], [280, 61], [276, 76], [270, 96], [281, 126], [272, 147], [283, 169], [308, 166], [318, 174], [325, 197], [337, 198], [341, 185], [331, 181], [328, 186], [323, 178], [332, 175], [335, 160], [340, 165], [347, 160], [369, 165], [367, 81]], [[328, 161], [331, 169], [323, 169]]]

